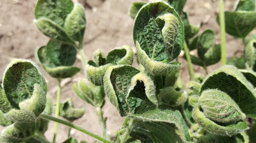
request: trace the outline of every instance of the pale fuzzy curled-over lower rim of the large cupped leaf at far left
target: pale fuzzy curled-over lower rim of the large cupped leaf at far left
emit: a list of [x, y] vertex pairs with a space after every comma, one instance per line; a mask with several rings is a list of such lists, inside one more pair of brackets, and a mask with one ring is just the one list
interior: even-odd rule
[[19, 103], [20, 109], [12, 109], [5, 113], [5, 117], [15, 122], [35, 122], [46, 106], [46, 93], [38, 84], [34, 84], [32, 96]]

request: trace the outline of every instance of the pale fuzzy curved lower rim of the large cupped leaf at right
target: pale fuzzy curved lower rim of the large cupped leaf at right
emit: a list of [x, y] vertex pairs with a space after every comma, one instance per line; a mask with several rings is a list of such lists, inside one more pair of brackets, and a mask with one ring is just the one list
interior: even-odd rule
[[193, 109], [192, 116], [194, 120], [200, 124], [205, 130], [222, 136], [232, 136], [247, 128], [245, 121], [238, 121], [236, 123], [224, 124], [217, 123], [208, 119], [200, 110], [200, 106], [196, 105]]

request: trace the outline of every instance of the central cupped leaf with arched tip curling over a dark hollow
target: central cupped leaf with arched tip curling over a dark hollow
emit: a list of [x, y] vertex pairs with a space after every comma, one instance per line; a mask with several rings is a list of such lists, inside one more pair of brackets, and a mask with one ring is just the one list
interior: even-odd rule
[[109, 66], [104, 91], [121, 116], [136, 113], [143, 100], [157, 104], [154, 82], [130, 65]]

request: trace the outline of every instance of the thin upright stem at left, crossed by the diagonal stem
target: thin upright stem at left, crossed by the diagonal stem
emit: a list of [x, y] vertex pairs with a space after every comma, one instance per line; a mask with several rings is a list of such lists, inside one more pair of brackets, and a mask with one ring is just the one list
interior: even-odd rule
[[[56, 112], [55, 112], [56, 118], [59, 117], [59, 101], [60, 101], [60, 90], [61, 90], [60, 83], [61, 83], [61, 79], [58, 79], [58, 90], [57, 90], [57, 94], [56, 94], [57, 100], [56, 100]], [[56, 141], [57, 130], [58, 130], [58, 123], [55, 122], [53, 142]]]

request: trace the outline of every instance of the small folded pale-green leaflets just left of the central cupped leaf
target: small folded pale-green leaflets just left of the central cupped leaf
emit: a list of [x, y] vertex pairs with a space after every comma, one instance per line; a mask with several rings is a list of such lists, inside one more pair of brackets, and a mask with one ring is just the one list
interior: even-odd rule
[[84, 101], [95, 107], [101, 107], [104, 103], [104, 89], [102, 86], [89, 86], [84, 80], [79, 81], [78, 84], [72, 86], [75, 93]]

